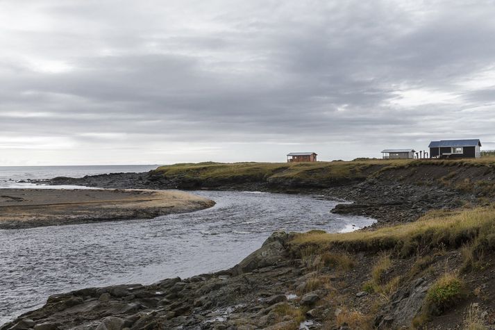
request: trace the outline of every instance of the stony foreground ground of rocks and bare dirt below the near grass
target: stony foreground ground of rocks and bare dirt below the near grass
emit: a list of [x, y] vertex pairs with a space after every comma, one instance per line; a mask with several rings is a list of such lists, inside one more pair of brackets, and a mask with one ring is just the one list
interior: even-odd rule
[[[293, 235], [274, 233], [224, 272], [53, 295], [42, 308], [0, 330], [409, 329], [438, 273], [459, 265], [458, 251], [438, 250], [424, 269], [414, 267], [417, 257], [393, 259], [380, 279], [384, 291], [369, 292], [363, 283], [371, 279], [371, 265], [380, 256], [346, 254], [349, 265], [325, 265], [310, 255], [291, 256]], [[465, 329], [471, 314], [495, 324], [493, 272], [491, 266], [481, 277], [467, 274], [464, 281], [476, 295], [425, 329]]]

